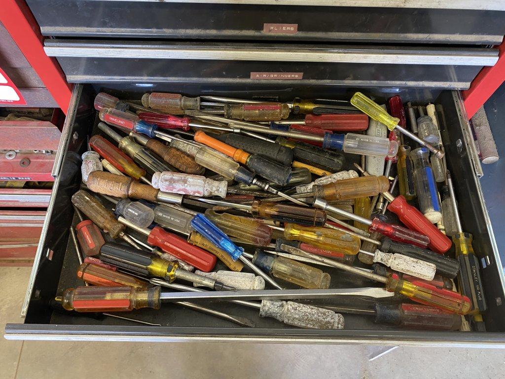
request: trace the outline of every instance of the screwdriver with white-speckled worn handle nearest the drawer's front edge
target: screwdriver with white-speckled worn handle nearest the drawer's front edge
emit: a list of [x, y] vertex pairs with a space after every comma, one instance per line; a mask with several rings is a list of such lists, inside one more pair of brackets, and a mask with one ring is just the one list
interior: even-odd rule
[[[206, 292], [199, 288], [167, 283], [160, 279], [151, 279], [154, 285], [170, 288], [183, 292]], [[342, 315], [327, 309], [312, 305], [295, 303], [293, 301], [262, 300], [261, 303], [244, 300], [230, 300], [231, 303], [240, 304], [260, 311], [260, 317], [273, 317], [287, 325], [313, 328], [313, 329], [342, 329], [344, 319]]]

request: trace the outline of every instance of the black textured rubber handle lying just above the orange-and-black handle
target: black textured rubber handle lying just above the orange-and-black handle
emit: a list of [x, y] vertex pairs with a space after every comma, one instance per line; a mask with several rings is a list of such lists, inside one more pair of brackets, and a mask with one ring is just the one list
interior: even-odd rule
[[291, 149], [269, 141], [234, 133], [217, 135], [216, 139], [234, 148], [242, 149], [249, 154], [260, 154], [271, 158], [284, 166], [290, 166], [293, 162], [293, 152]]

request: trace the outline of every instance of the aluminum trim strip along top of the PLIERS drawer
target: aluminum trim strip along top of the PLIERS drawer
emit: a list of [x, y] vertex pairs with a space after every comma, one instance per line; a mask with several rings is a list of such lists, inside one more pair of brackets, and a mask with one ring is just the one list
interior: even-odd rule
[[[160, 0], [109, 0], [114, 2], [160, 2]], [[307, 6], [306, 0], [162, 0], [164, 3], [250, 4], [276, 6]], [[502, 0], [311, 0], [313, 7], [431, 8], [505, 11]]]

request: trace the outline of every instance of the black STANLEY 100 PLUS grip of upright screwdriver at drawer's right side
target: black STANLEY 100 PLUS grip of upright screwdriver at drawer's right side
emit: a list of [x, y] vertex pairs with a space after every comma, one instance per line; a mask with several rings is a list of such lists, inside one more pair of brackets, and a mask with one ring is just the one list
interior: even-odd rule
[[472, 309], [484, 312], [487, 309], [486, 299], [482, 292], [479, 261], [474, 254], [460, 254], [458, 257], [460, 273], [458, 284], [461, 293], [472, 301]]

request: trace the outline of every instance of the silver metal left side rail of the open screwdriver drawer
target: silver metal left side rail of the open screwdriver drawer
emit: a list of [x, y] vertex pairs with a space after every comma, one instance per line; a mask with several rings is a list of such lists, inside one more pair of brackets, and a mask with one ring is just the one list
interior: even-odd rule
[[52, 175], [55, 177], [55, 182], [53, 184], [53, 192], [51, 193], [51, 198], [49, 199], [49, 205], [47, 206], [47, 213], [44, 223], [42, 224], [42, 231], [40, 233], [40, 243], [37, 247], [37, 252], [33, 258], [33, 266], [30, 273], [30, 279], [28, 280], [28, 288], [26, 289], [25, 300], [23, 301], [23, 306], [21, 308], [21, 316], [26, 316], [28, 310], [28, 305], [32, 296], [33, 286], [35, 283], [35, 278], [38, 272], [38, 265], [42, 259], [43, 254], [45, 254], [46, 247], [43, 243], [47, 235], [47, 229], [49, 223], [51, 222], [51, 215], [53, 214], [53, 208], [56, 202], [57, 189], [60, 186], [60, 171], [63, 165], [63, 160], [65, 154], [67, 153], [68, 144], [71, 138], [71, 133], [74, 125], [75, 115], [77, 113], [77, 107], [79, 105], [79, 100], [81, 97], [82, 86], [76, 85], [72, 91], [72, 98], [70, 99], [70, 104], [68, 108], [68, 114], [65, 118], [65, 123], [63, 125], [62, 136], [60, 139], [60, 145], [58, 146], [58, 152], [56, 153], [55, 166], [53, 168]]

